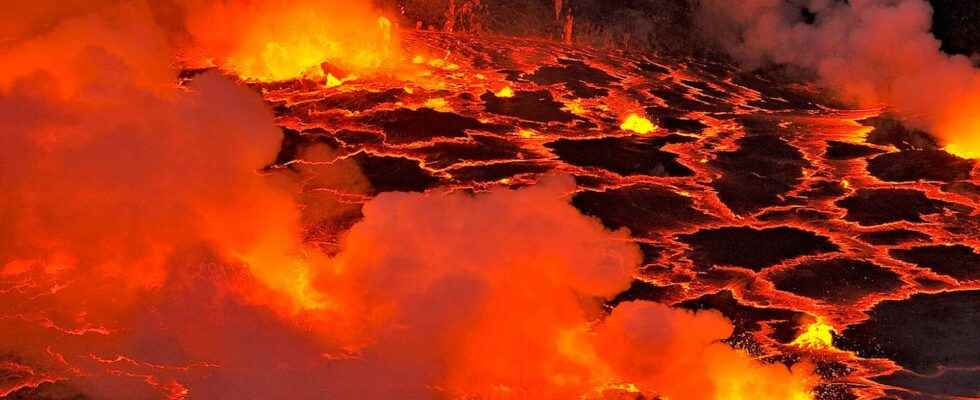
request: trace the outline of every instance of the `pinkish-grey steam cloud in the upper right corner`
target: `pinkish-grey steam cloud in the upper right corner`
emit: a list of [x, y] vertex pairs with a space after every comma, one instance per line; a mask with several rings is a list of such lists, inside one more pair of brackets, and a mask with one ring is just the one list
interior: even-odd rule
[[980, 156], [980, 71], [940, 51], [925, 0], [705, 0], [701, 11], [737, 58], [816, 71], [844, 98], [892, 107], [948, 151]]

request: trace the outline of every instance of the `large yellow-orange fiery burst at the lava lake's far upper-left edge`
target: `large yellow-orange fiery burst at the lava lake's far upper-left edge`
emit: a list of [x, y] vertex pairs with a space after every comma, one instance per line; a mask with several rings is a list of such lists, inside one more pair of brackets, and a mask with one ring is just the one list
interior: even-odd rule
[[318, 78], [329, 72], [323, 63], [367, 73], [397, 59], [391, 21], [364, 2], [215, 3], [195, 14], [189, 30], [196, 52], [245, 80]]

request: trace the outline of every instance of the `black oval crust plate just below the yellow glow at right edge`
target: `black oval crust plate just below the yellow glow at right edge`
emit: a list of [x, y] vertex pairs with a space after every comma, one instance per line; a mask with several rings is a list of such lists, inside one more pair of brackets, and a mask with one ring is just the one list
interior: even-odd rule
[[868, 172], [890, 182], [970, 179], [973, 161], [941, 150], [911, 150], [882, 154], [868, 160]]

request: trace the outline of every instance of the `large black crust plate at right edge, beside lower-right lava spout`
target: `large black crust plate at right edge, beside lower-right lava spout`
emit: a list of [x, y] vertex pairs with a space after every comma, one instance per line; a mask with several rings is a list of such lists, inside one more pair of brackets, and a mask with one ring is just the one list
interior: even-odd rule
[[914, 372], [980, 366], [980, 290], [919, 293], [874, 306], [834, 345], [864, 358], [894, 360]]

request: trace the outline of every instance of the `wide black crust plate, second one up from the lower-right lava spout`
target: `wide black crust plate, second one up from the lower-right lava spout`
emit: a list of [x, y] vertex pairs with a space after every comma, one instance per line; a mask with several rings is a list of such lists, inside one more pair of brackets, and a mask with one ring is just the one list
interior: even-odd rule
[[825, 236], [785, 226], [703, 229], [678, 239], [691, 245], [688, 257], [702, 269], [728, 265], [761, 271], [799, 256], [838, 250]]

